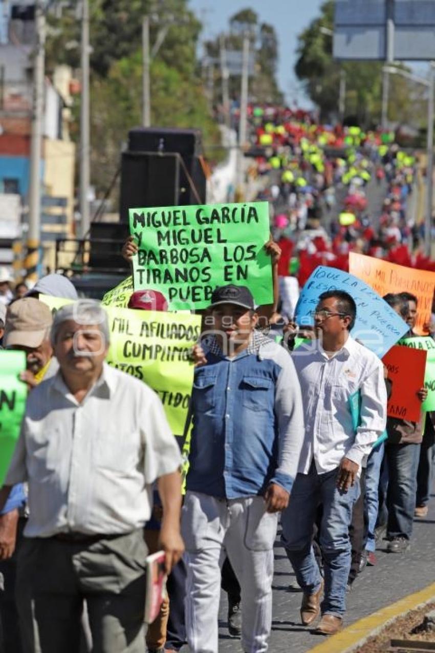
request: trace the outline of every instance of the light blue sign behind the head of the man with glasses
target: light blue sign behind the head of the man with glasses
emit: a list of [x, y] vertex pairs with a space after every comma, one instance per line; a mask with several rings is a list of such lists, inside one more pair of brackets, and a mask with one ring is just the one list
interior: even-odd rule
[[359, 340], [379, 358], [397, 343], [409, 327], [367, 283], [348, 272], [319, 266], [305, 283], [295, 308], [298, 325], [313, 325], [319, 296], [328, 290], [344, 290], [357, 305], [352, 338]]

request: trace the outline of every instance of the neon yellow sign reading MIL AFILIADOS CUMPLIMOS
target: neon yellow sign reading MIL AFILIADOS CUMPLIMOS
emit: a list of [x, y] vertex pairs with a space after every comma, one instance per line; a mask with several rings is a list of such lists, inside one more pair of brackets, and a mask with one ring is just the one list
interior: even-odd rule
[[[52, 311], [70, 301], [41, 295]], [[175, 436], [182, 436], [192, 392], [190, 351], [201, 332], [201, 316], [104, 306], [110, 348], [107, 362], [157, 392]]]

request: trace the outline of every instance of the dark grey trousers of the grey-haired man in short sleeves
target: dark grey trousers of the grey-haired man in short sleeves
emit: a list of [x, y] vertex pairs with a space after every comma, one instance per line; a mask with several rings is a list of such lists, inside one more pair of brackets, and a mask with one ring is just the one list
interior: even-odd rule
[[86, 601], [93, 653], [145, 653], [142, 530], [89, 545], [24, 538], [16, 597], [25, 653], [77, 653]]

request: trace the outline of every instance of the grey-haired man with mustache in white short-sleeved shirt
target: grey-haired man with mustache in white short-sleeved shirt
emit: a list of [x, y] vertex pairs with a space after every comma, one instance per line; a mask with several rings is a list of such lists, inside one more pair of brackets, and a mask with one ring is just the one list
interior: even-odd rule
[[60, 369], [29, 394], [0, 492], [1, 509], [10, 486], [29, 484], [17, 577], [26, 650], [76, 653], [86, 601], [95, 650], [144, 653], [143, 526], [157, 480], [170, 571], [184, 548], [179, 447], [157, 394], [104, 362], [98, 302], [58, 311], [51, 340]]

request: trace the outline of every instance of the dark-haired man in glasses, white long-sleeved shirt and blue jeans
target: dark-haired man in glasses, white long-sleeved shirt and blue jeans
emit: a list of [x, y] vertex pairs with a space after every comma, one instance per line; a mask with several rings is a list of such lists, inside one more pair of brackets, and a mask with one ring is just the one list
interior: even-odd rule
[[[282, 513], [282, 542], [303, 589], [301, 620], [309, 626], [320, 613], [323, 592], [311, 545], [316, 511], [322, 505], [325, 596], [317, 631], [326, 635], [342, 627], [351, 563], [348, 528], [359, 496], [361, 462], [385, 430], [387, 412], [382, 362], [350, 336], [355, 316], [348, 293], [323, 293], [314, 312], [318, 340], [293, 353], [305, 440], [290, 503]], [[350, 410], [355, 392], [361, 398], [356, 432]]]

